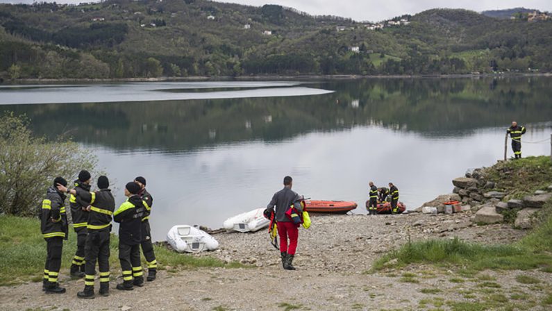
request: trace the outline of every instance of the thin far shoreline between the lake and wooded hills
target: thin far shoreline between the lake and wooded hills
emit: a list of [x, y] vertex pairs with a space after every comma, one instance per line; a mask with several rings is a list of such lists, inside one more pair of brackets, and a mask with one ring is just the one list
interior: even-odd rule
[[128, 83], [128, 82], [208, 82], [208, 81], [340, 81], [361, 79], [408, 79], [408, 78], [517, 78], [517, 77], [550, 77], [552, 73], [501, 73], [501, 74], [414, 74], [414, 75], [374, 75], [356, 74], [337, 75], [260, 75], [260, 76], [186, 76], [158, 78], [24, 78], [15, 81], [3, 81], [0, 85], [24, 85], [30, 83]]

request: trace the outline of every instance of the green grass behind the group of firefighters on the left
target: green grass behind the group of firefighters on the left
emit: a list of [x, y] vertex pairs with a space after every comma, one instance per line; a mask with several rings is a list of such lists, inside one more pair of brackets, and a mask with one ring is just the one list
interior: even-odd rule
[[[117, 235], [111, 236], [110, 242], [110, 270], [112, 276], [120, 271]], [[212, 257], [195, 257], [170, 251], [162, 246], [153, 246], [159, 264], [158, 269], [166, 266], [172, 269], [194, 269], [199, 267], [243, 267], [237, 262], [225, 264]], [[0, 286], [15, 285], [28, 281], [42, 280], [44, 261], [46, 259], [46, 242], [40, 233], [40, 221], [36, 218], [0, 216]], [[63, 243], [63, 269], [71, 265], [76, 251], [76, 235], [69, 228], [69, 239]], [[142, 258], [142, 263], [145, 260]]]

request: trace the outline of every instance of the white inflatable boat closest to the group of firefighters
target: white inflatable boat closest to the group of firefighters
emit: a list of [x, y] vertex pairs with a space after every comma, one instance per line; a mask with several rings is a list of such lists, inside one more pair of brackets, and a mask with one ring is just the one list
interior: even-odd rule
[[193, 226], [177, 225], [167, 233], [167, 242], [178, 253], [198, 253], [200, 251], [215, 251], [219, 242], [203, 230]]

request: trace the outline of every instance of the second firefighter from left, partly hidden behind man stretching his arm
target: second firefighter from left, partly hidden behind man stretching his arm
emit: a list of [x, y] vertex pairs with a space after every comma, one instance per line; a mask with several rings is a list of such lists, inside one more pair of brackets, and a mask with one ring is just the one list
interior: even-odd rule
[[73, 257], [73, 262], [71, 264], [70, 274], [71, 276], [83, 278], [84, 274], [84, 262], [85, 262], [85, 253], [84, 247], [86, 244], [86, 233], [87, 233], [87, 221], [88, 213], [86, 208], [90, 205], [90, 201], [83, 200], [83, 197], [87, 193], [90, 193], [90, 173], [88, 171], [82, 170], [78, 173], [78, 179], [75, 180], [74, 190], [76, 192], [82, 193], [82, 196], [76, 196], [71, 194], [69, 196], [69, 205], [71, 206], [71, 217], [73, 219], [73, 228], [76, 232], [76, 253]]

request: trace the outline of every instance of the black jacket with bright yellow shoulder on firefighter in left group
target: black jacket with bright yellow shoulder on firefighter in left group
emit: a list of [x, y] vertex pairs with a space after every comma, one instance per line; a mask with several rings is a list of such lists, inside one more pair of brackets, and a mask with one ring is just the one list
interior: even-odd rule
[[113, 213], [113, 220], [120, 223], [119, 241], [127, 245], [136, 245], [142, 242], [142, 217], [144, 217], [144, 202], [140, 196], [129, 197]]

